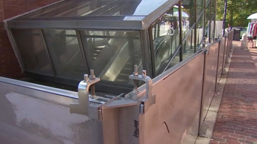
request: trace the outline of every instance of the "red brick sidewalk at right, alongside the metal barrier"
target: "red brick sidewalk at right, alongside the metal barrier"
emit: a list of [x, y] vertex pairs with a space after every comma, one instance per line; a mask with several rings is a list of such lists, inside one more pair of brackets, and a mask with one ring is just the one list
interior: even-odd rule
[[235, 47], [210, 143], [257, 144], [257, 49]]

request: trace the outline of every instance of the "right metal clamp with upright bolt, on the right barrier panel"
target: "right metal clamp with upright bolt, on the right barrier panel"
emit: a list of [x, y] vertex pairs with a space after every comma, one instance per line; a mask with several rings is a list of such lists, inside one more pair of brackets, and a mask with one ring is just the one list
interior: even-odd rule
[[134, 97], [132, 99], [135, 99], [136, 94], [139, 92], [138, 91], [138, 80], [145, 81], [146, 85], [146, 94], [145, 98], [141, 100], [141, 105], [140, 105], [140, 114], [144, 114], [146, 111], [148, 111], [148, 108], [155, 103], [156, 96], [152, 94], [152, 87], [153, 87], [153, 82], [151, 77], [148, 77], [146, 74], [146, 70], [142, 71], [142, 74], [138, 74], [138, 66], [134, 65], [134, 72], [132, 75], [129, 76], [129, 79], [132, 79], [134, 81], [134, 89], [132, 91], [132, 94]]

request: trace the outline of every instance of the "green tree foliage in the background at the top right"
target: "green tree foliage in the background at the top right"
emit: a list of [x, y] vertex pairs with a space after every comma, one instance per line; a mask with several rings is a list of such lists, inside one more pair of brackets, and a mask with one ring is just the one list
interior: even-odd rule
[[[224, 0], [217, 0], [216, 20], [223, 20]], [[257, 13], [256, 0], [228, 0], [226, 24], [233, 27], [247, 27], [249, 20], [246, 18]]]

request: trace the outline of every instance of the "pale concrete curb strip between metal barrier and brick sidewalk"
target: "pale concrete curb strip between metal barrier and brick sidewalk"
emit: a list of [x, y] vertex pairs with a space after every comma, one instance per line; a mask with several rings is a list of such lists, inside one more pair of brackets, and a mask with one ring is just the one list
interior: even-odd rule
[[197, 140], [195, 141], [195, 144], [209, 144], [211, 141], [211, 137], [213, 135], [213, 128], [214, 125], [216, 123], [216, 117], [220, 108], [220, 102], [222, 99], [222, 95], [223, 95], [223, 91], [224, 91], [224, 87], [227, 81], [227, 76], [228, 76], [228, 71], [229, 71], [229, 67], [230, 67], [230, 63], [231, 63], [231, 58], [234, 52], [234, 46], [232, 46], [231, 48], [231, 52], [229, 52], [229, 57], [227, 59], [228, 63], [225, 64], [225, 70], [226, 72], [223, 73], [224, 75], [221, 76], [220, 81], [218, 83], [217, 86], [217, 90], [215, 92], [215, 95], [213, 97], [213, 100], [211, 102], [210, 108], [207, 112], [207, 115], [205, 117], [204, 122], [207, 123], [208, 127], [207, 127], [207, 132], [206, 132], [206, 137], [197, 137]]

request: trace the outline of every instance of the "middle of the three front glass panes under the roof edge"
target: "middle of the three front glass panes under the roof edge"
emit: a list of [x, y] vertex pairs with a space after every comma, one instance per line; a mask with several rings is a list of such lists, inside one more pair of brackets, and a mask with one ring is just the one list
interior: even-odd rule
[[56, 75], [82, 80], [87, 70], [75, 30], [43, 30]]

